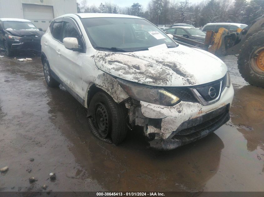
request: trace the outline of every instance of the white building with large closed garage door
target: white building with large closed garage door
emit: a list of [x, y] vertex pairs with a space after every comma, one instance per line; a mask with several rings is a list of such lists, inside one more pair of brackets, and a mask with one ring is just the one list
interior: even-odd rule
[[53, 18], [69, 13], [77, 13], [76, 0], [0, 0], [0, 18], [28, 19], [43, 30]]

